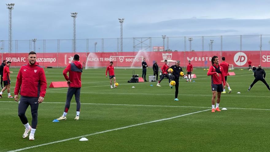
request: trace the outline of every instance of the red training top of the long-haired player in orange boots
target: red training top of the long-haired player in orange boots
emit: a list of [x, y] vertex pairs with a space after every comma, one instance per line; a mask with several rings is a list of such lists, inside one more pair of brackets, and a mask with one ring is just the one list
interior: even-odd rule
[[[220, 72], [221, 73], [218, 73], [219, 77], [217, 76], [217, 72], [216, 72], [216, 69], [214, 68], [214, 66], [216, 68], [219, 67], [220, 69]], [[208, 72], [207, 72], [207, 76], [211, 76], [211, 84], [222, 84], [223, 82], [223, 86], [226, 85], [225, 83], [225, 78], [224, 78], [224, 75], [223, 75], [223, 68], [221, 66], [216, 66], [215, 64], [210, 66]]]

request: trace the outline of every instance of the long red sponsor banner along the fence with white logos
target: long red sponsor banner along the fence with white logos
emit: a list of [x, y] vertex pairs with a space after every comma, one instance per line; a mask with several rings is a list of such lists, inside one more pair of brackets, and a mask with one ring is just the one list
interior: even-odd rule
[[[73, 61], [75, 53], [37, 53], [37, 62], [43, 67], [66, 67]], [[186, 67], [188, 61], [194, 67], [209, 67], [213, 56], [226, 57], [226, 62], [234, 67], [248, 68], [248, 61], [252, 66], [270, 67], [270, 51], [192, 51], [192, 52], [120, 52], [120, 53], [76, 53], [80, 56], [80, 62], [84, 67], [98, 68], [107, 67], [110, 61], [115, 67], [140, 68], [143, 58], [149, 67], [152, 67], [155, 60], [162, 67], [164, 60], [169, 65], [180, 60], [180, 66]], [[28, 53], [3, 53], [2, 60], [12, 62], [12, 66], [21, 66], [28, 63]]]

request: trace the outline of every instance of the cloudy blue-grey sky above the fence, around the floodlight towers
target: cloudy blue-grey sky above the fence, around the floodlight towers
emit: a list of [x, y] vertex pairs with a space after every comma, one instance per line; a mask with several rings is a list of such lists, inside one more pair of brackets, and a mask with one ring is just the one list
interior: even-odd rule
[[6, 3], [15, 3], [13, 40], [269, 34], [267, 0], [1, 0], [0, 40], [8, 40]]

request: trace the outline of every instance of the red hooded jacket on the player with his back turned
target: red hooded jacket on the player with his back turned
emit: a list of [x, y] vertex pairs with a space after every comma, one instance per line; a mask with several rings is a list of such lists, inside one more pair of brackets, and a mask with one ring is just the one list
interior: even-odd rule
[[81, 81], [82, 72], [83, 72], [83, 65], [79, 61], [74, 61], [73, 63], [67, 65], [67, 67], [63, 70], [63, 75], [67, 81], [70, 80], [71, 83], [68, 84], [69, 87], [72, 88], [82, 87]]

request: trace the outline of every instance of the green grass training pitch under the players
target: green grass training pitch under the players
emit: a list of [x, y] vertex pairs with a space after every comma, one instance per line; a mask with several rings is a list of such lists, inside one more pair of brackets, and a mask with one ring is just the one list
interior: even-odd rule
[[[48, 86], [52, 81], [64, 81], [62, 70], [45, 69]], [[22, 138], [25, 128], [17, 116], [18, 103], [4, 102], [14, 101], [7, 98], [5, 91], [0, 99], [0, 151], [17, 150], [210, 110], [212, 96], [207, 71], [195, 69], [195, 82], [185, 82], [180, 78], [180, 101], [176, 102], [175, 89], [169, 88], [168, 79], [161, 82], [162, 87], [156, 87], [156, 82], [127, 83], [132, 76], [132, 70], [115, 69], [116, 80], [119, 83], [116, 89], [110, 89], [105, 69], [84, 70], [79, 121], [74, 120], [76, 104], [73, 98], [67, 120], [52, 122], [63, 114], [67, 89], [48, 88], [44, 103], [39, 105], [34, 141]], [[14, 72], [10, 74], [13, 92], [18, 69], [11, 71]], [[135, 71], [141, 75], [141, 69]], [[228, 76], [228, 83], [233, 91], [230, 94], [222, 94], [220, 102], [220, 107], [226, 107], [228, 110], [215, 113], [208, 110], [86, 136], [89, 141], [81, 142], [76, 138], [23, 151], [269, 151], [270, 92], [261, 82], [247, 92], [254, 79], [252, 72], [239, 69], [234, 72], [236, 76]], [[266, 70], [266, 73], [270, 73], [270, 70]], [[148, 69], [147, 74], [152, 75], [151, 69]], [[266, 81], [270, 82], [268, 75]], [[151, 84], [153, 86], [150, 86]], [[135, 88], [131, 88], [132, 86]], [[226, 91], [228, 92], [227, 89]], [[30, 108], [26, 116], [31, 124]]]

